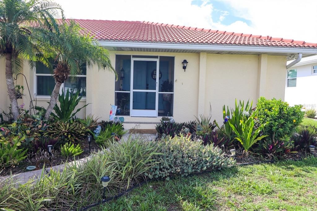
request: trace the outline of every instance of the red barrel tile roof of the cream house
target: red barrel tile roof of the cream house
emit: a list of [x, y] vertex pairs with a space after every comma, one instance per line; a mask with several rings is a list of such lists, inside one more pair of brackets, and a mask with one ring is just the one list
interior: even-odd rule
[[[67, 20], [69, 21], [69, 19]], [[316, 48], [316, 43], [271, 36], [198, 29], [172, 24], [74, 19], [96, 39], [107, 41], [164, 42], [186, 44], [247, 45], [292, 48]]]

